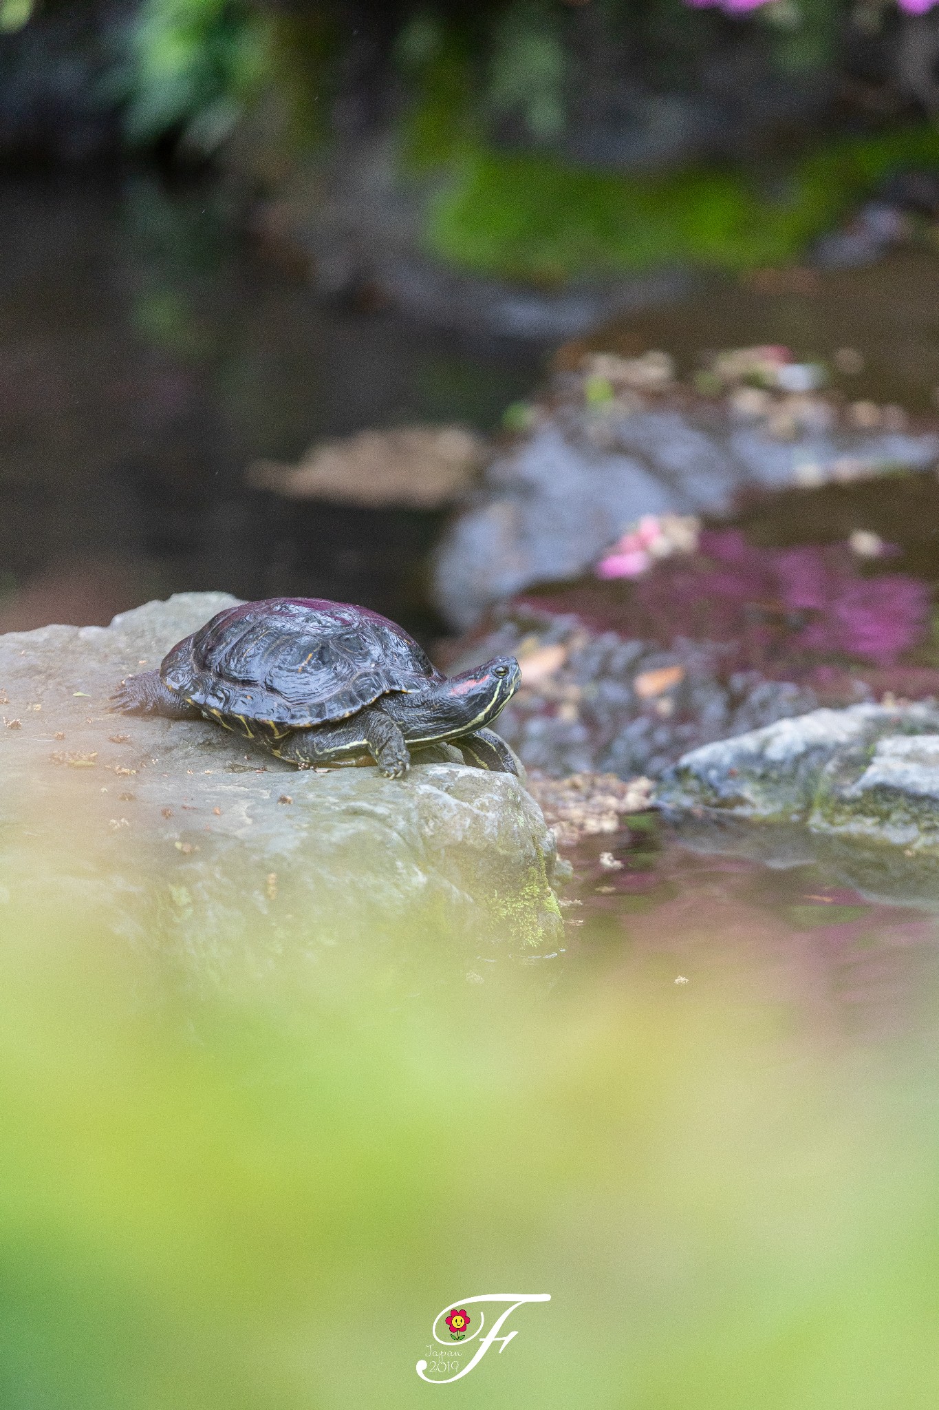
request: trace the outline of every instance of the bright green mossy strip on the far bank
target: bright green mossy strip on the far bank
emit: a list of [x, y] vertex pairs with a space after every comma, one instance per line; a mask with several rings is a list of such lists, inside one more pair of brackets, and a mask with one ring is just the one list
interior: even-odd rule
[[466, 269], [539, 283], [687, 262], [777, 265], [890, 171], [938, 159], [933, 127], [836, 138], [793, 164], [780, 197], [731, 168], [622, 175], [466, 144], [432, 206], [428, 247]]

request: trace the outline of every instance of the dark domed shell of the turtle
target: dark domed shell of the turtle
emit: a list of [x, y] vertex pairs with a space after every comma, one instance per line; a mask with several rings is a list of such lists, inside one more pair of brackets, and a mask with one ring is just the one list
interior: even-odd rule
[[169, 651], [160, 675], [217, 719], [284, 730], [346, 719], [389, 691], [443, 678], [394, 622], [320, 598], [225, 608]]

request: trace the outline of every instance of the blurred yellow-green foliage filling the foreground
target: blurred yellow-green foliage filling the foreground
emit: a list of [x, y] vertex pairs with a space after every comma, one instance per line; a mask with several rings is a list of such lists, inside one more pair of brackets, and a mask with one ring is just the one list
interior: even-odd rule
[[[626, 986], [615, 953], [467, 983], [386, 942], [196, 995], [159, 936], [0, 915], [8, 1410], [939, 1400], [916, 1042], [807, 1036], [746, 974]], [[507, 1289], [552, 1300], [424, 1385], [436, 1313]]]

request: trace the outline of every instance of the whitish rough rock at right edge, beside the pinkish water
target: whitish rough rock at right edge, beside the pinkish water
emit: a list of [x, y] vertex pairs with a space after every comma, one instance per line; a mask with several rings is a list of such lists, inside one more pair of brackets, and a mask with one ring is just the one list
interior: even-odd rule
[[657, 801], [677, 815], [805, 823], [939, 859], [939, 709], [853, 705], [781, 719], [686, 754]]

